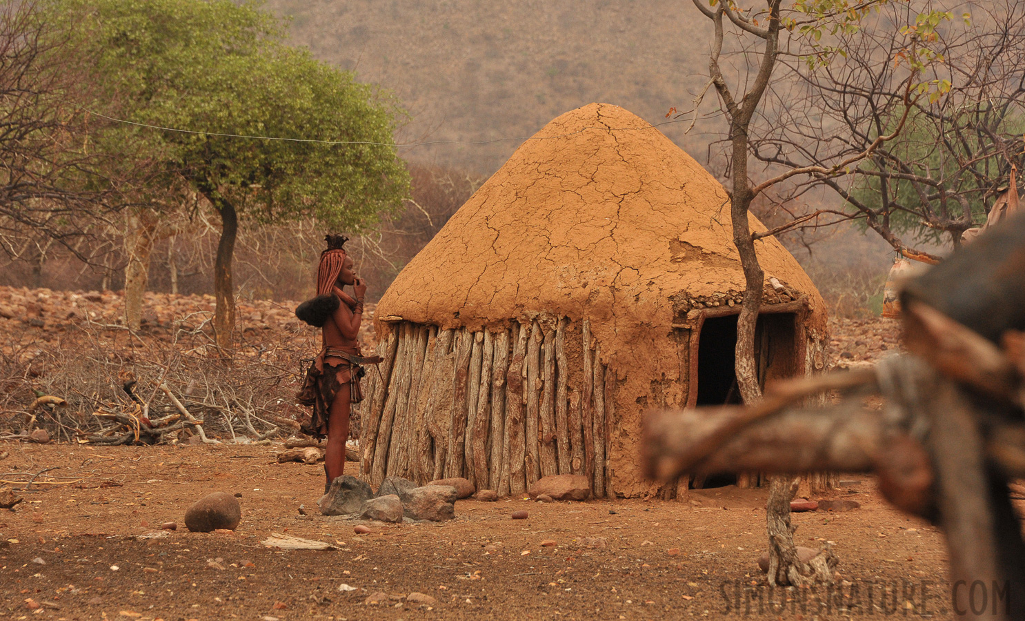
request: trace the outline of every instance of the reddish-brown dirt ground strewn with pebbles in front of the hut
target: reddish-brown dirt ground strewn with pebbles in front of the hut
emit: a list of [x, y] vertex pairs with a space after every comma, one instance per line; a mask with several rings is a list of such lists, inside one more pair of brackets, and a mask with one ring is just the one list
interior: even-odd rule
[[[52, 466], [60, 467], [53, 475], [91, 477], [22, 492], [26, 501], [17, 511], [0, 511], [0, 618], [949, 614], [942, 534], [890, 508], [866, 477], [845, 478], [835, 493], [860, 508], [793, 514], [799, 545], [829, 541], [840, 558], [844, 582], [829, 598], [824, 591], [770, 592], [764, 586], [755, 565], [765, 546], [764, 490], [692, 491], [684, 502], [461, 500], [448, 523], [371, 524], [369, 535], [356, 535], [359, 523], [316, 511], [321, 466], [278, 464], [276, 450], [0, 444], [0, 453], [10, 454], [0, 461], [6, 479]], [[119, 485], [97, 487], [105, 481]], [[241, 494], [238, 530], [184, 530], [186, 508], [213, 491]], [[517, 509], [527, 509], [529, 518], [511, 520]], [[177, 531], [145, 537], [169, 521]], [[279, 551], [261, 544], [272, 532], [339, 549]], [[545, 539], [556, 545], [541, 546]], [[339, 590], [342, 584], [355, 590]], [[414, 591], [437, 602], [403, 601]], [[375, 592], [389, 598], [365, 605]]]

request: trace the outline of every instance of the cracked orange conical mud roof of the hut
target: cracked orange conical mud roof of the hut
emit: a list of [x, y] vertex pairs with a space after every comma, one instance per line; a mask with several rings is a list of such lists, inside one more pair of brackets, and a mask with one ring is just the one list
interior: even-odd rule
[[[755, 246], [766, 278], [808, 294], [809, 323], [821, 324], [822, 299], [796, 260], [774, 238]], [[621, 339], [669, 330], [670, 298], [743, 288], [722, 184], [643, 119], [591, 104], [525, 141], [402, 271], [377, 318], [589, 317]]]

